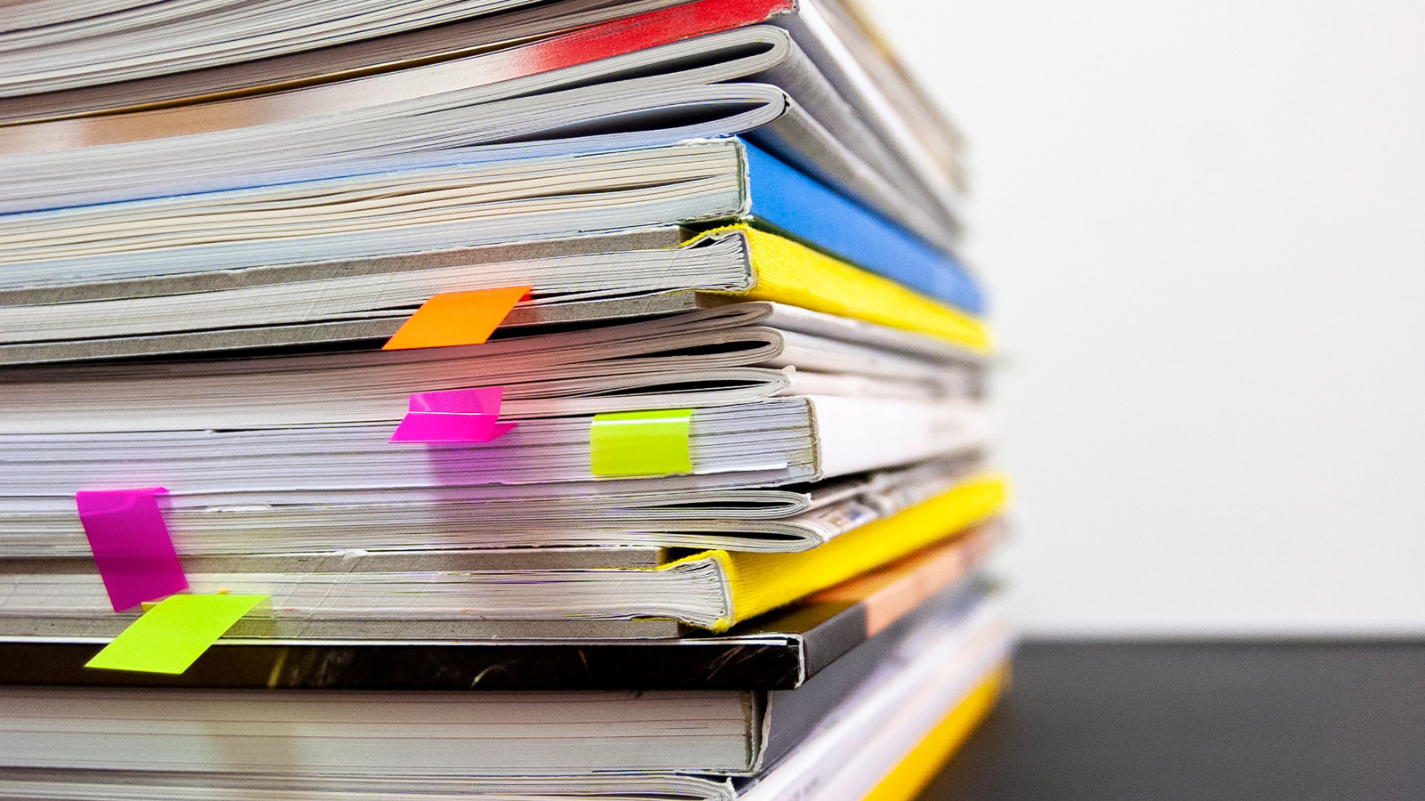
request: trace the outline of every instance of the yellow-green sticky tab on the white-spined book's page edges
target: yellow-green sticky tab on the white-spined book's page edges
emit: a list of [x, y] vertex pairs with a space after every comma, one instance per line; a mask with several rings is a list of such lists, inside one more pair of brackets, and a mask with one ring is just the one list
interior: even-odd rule
[[596, 476], [691, 473], [693, 409], [594, 415], [589, 462]]

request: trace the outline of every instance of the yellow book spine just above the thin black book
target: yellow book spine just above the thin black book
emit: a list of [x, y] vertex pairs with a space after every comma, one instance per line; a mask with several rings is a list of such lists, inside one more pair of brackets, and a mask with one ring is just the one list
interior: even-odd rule
[[1009, 500], [1009, 480], [998, 473], [972, 477], [955, 489], [866, 523], [811, 550], [797, 553], [744, 553], [708, 550], [681, 559], [714, 559], [727, 576], [730, 614], [711, 626], [724, 631], [734, 623], [787, 606], [797, 599], [839, 584], [866, 570], [946, 539], [993, 517]]

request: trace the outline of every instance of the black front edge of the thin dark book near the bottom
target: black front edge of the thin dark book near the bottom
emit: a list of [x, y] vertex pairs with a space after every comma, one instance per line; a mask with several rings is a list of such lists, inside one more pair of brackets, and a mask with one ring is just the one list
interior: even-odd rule
[[224, 690], [748, 690], [805, 676], [791, 637], [496, 643], [219, 641], [180, 676], [86, 670], [103, 641], [0, 643], [0, 686]]

